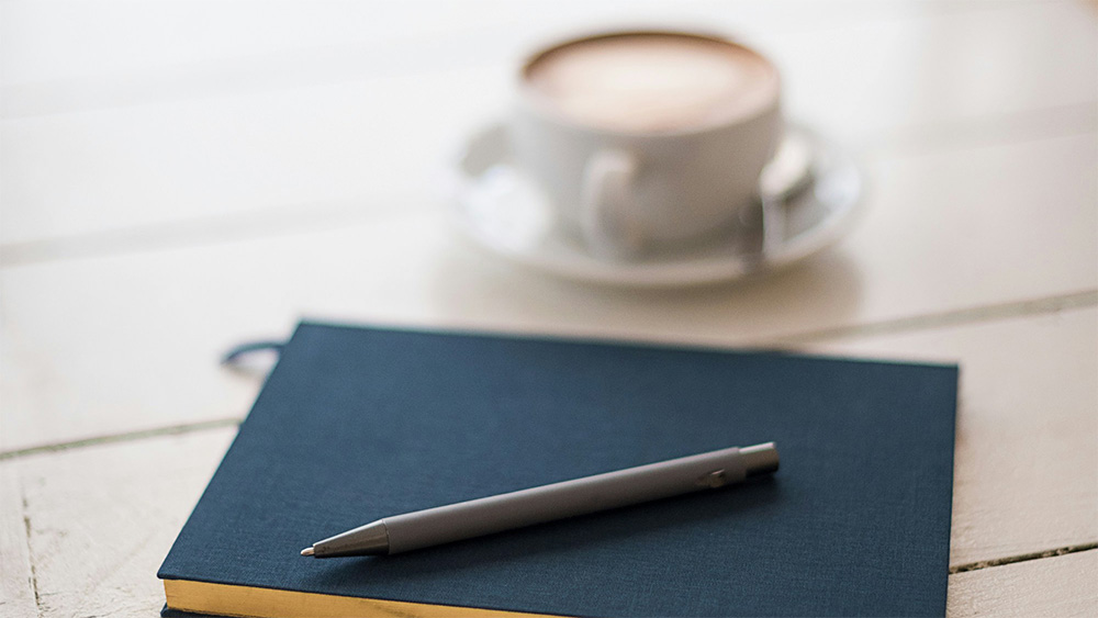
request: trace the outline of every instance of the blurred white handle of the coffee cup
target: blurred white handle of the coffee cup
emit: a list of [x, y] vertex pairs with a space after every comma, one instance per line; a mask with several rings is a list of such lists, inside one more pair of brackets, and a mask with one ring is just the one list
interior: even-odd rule
[[587, 160], [580, 198], [580, 229], [593, 251], [625, 258], [643, 248], [643, 231], [629, 216], [636, 176], [637, 158], [625, 150], [600, 150]]

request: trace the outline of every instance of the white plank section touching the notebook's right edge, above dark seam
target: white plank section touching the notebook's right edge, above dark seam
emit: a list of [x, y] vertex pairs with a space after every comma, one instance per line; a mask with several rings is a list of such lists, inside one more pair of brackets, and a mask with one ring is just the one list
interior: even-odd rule
[[953, 566], [1098, 540], [1098, 310], [811, 346], [956, 361]]

